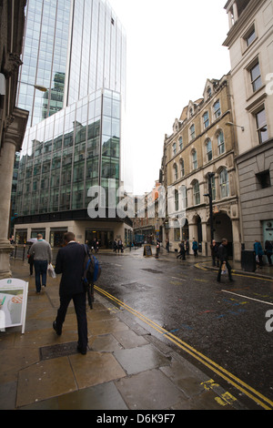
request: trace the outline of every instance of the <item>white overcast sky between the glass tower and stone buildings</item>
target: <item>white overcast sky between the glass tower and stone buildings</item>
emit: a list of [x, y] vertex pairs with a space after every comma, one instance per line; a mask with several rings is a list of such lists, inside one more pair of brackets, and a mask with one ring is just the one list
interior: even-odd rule
[[159, 177], [165, 134], [207, 78], [230, 70], [226, 0], [109, 0], [126, 30], [126, 189]]

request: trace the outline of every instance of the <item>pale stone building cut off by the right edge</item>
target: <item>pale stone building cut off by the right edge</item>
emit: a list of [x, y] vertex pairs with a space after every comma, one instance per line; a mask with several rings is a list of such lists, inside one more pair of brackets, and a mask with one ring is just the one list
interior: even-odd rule
[[228, 0], [241, 234], [273, 241], [273, 1]]

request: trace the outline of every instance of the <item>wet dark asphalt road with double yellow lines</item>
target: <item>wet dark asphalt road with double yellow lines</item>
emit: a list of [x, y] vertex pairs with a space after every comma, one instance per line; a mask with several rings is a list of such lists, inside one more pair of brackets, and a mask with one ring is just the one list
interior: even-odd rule
[[212, 369], [217, 383], [228, 381], [239, 397], [247, 391], [253, 403], [273, 407], [273, 331], [266, 330], [272, 281], [249, 274], [218, 283], [215, 271], [192, 261], [144, 258], [142, 250], [98, 257], [103, 273], [96, 290], [123, 302], [123, 311], [201, 370]]

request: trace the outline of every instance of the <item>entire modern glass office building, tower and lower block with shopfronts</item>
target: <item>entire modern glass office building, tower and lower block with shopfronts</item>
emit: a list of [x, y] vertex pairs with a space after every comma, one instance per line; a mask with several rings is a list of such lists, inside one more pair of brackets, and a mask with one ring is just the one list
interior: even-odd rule
[[[102, 247], [130, 234], [109, 218], [109, 183], [122, 184], [126, 35], [106, 0], [29, 0], [17, 106], [29, 110], [18, 171], [15, 237], [42, 232], [53, 247], [69, 229]], [[46, 88], [46, 90], [45, 90]], [[90, 219], [88, 189], [106, 190]]]

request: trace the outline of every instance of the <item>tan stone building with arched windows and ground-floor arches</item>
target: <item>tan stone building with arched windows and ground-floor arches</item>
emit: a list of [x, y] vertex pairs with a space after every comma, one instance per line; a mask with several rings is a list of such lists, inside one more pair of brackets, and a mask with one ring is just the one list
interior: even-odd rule
[[[163, 241], [197, 239], [199, 254], [210, 254], [211, 235], [228, 239], [229, 253], [240, 259], [237, 154], [230, 104], [230, 76], [207, 79], [203, 97], [189, 101], [165, 138], [161, 182], [167, 191]], [[210, 181], [211, 180], [211, 181]], [[208, 183], [211, 182], [210, 221]]]

